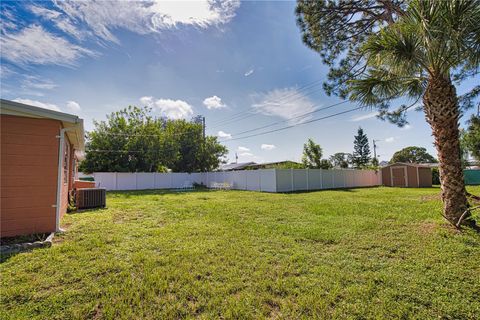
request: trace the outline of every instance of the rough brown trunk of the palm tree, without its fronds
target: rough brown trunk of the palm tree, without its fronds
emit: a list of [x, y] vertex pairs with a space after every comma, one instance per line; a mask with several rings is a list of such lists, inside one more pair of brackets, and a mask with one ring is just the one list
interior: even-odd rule
[[458, 107], [455, 86], [445, 77], [432, 77], [423, 96], [427, 122], [437, 148], [445, 218], [457, 224], [468, 208], [460, 158]]

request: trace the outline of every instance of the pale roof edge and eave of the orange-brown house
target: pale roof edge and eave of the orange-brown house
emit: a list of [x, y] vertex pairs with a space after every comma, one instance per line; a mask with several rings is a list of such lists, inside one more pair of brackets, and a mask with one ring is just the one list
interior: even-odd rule
[[28, 104], [5, 99], [0, 99], [0, 114], [27, 118], [58, 120], [62, 122], [64, 128], [71, 129], [66, 131], [66, 135], [73, 144], [74, 148], [81, 152], [83, 152], [85, 149], [83, 119], [80, 119], [76, 115], [34, 107]]

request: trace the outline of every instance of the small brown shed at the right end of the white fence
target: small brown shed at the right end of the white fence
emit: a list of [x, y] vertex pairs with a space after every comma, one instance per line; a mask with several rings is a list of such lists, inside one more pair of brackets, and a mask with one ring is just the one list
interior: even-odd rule
[[429, 166], [397, 162], [382, 168], [382, 183], [389, 187], [427, 188], [432, 186]]

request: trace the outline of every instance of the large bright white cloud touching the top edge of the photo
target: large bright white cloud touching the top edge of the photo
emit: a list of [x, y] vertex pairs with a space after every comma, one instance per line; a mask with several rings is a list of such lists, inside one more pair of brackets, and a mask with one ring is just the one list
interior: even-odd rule
[[73, 21], [86, 24], [102, 40], [118, 43], [113, 30], [123, 28], [139, 34], [190, 25], [207, 28], [229, 22], [240, 6], [227, 1], [55, 1], [57, 9]]

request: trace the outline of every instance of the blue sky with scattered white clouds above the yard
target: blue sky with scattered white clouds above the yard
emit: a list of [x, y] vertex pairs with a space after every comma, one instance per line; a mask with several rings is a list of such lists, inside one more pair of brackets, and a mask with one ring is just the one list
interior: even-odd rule
[[1, 96], [78, 114], [87, 130], [93, 119], [128, 105], [172, 118], [201, 114], [207, 134], [219, 135], [229, 159], [237, 152], [241, 162], [298, 161], [308, 138], [324, 156], [351, 152], [359, 126], [380, 140], [380, 160], [410, 145], [435, 154], [430, 128], [414, 111], [405, 128], [358, 110], [236, 140], [271, 123], [280, 122], [251, 134], [357, 107], [348, 102], [295, 118], [340, 100], [323, 92], [328, 69], [302, 44], [294, 8], [294, 2], [2, 1]]

